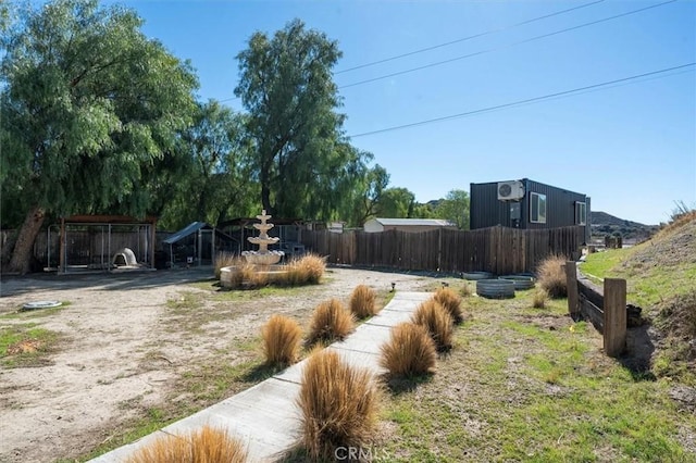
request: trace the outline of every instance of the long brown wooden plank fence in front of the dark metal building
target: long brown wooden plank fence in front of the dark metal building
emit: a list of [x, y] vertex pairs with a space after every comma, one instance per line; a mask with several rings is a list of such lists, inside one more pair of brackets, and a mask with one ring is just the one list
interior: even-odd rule
[[549, 254], [576, 259], [583, 240], [582, 227], [523, 230], [501, 226], [471, 232], [320, 230], [302, 232], [301, 237], [306, 249], [326, 255], [333, 264], [497, 275], [533, 272]]

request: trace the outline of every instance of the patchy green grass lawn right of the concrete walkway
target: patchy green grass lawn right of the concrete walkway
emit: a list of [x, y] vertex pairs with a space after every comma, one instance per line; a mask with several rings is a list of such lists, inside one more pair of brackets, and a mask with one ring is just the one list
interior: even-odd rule
[[464, 304], [437, 373], [385, 401], [390, 461], [696, 461], [696, 416], [676, 409], [671, 383], [605, 356], [564, 300]]

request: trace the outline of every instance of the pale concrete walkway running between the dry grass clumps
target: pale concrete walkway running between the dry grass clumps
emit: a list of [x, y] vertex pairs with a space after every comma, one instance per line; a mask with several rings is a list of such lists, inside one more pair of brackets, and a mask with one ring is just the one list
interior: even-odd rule
[[[338, 352], [351, 365], [366, 367], [375, 374], [384, 373], [378, 365], [380, 347], [389, 339], [390, 328], [408, 322], [415, 308], [431, 296], [430, 292], [397, 292], [376, 316], [360, 325], [346, 340], [334, 342], [327, 349]], [[231, 436], [245, 441], [250, 462], [275, 461], [300, 438], [300, 414], [295, 401], [306, 361], [91, 462], [120, 463], [153, 439], [188, 434], [206, 424], [226, 429]]]

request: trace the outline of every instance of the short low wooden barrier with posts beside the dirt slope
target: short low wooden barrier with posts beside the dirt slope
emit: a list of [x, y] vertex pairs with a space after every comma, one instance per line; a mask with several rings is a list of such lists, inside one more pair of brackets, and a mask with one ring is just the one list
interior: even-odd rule
[[568, 312], [573, 320], [587, 320], [604, 337], [605, 352], [619, 356], [626, 346], [626, 280], [605, 278], [604, 288], [577, 277], [575, 262], [566, 263]]

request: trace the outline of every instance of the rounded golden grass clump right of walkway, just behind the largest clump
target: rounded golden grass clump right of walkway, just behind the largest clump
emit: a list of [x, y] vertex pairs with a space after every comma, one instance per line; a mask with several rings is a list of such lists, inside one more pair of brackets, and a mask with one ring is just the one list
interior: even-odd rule
[[412, 323], [391, 328], [389, 341], [382, 346], [380, 365], [391, 376], [412, 377], [433, 373], [437, 352], [427, 330]]

